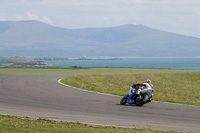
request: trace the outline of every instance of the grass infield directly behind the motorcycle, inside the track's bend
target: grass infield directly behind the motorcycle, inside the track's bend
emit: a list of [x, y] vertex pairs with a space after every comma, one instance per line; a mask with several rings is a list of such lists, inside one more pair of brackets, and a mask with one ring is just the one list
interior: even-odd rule
[[131, 74], [71, 76], [63, 83], [82, 89], [126, 95], [133, 83], [151, 79], [156, 90], [154, 100], [200, 106], [200, 74]]

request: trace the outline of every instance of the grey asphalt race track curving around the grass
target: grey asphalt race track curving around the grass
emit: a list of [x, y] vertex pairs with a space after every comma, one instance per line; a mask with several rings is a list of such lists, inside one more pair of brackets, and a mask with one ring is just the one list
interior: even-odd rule
[[[97, 125], [200, 132], [200, 107], [151, 102], [119, 105], [121, 97], [57, 83], [62, 76], [0, 75], [0, 114]], [[128, 91], [128, 90], [127, 90]]]

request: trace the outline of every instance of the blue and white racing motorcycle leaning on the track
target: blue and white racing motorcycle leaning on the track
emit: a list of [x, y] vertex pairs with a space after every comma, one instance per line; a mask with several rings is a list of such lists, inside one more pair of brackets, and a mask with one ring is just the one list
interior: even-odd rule
[[144, 104], [151, 102], [154, 92], [155, 90], [153, 88], [143, 89], [141, 86], [137, 86], [130, 96], [127, 94], [121, 99], [120, 104], [125, 105], [128, 103], [136, 106], [143, 106]]

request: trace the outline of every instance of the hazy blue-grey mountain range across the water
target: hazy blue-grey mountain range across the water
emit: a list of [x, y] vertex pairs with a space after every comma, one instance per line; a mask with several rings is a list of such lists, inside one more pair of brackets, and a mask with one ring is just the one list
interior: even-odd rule
[[[184, 28], [184, 27], [183, 27]], [[142, 25], [65, 29], [40, 21], [0, 21], [0, 56], [200, 57], [200, 38]]]

